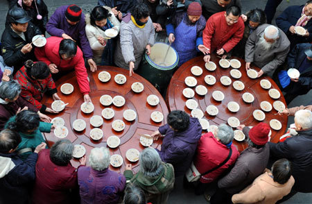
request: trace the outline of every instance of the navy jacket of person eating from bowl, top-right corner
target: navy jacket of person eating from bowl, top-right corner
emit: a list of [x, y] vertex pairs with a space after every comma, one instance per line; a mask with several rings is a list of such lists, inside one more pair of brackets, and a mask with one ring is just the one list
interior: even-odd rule
[[[289, 28], [297, 24], [298, 19], [300, 19], [301, 17], [302, 8], [304, 8], [304, 5], [289, 6], [288, 8], [286, 8], [286, 10], [284, 10], [284, 12], [281, 13], [281, 15], [279, 15], [279, 17], [276, 18], [275, 22], [277, 26], [281, 28], [281, 30], [284, 31], [286, 35], [291, 35]], [[309, 37], [301, 37], [300, 35], [297, 35], [297, 37], [302, 38], [302, 40], [306, 38], [305, 40], [307, 42], [311, 42], [312, 41], [312, 20], [310, 20], [304, 26], [304, 28], [306, 28], [309, 31], [310, 33]]]

